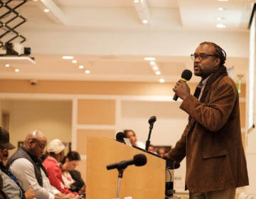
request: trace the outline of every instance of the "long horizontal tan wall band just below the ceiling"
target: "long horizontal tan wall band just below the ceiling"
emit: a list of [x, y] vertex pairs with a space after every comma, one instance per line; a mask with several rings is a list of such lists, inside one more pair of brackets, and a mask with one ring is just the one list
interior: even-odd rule
[[90, 82], [38, 80], [31, 85], [28, 80], [0, 80], [1, 92], [58, 93], [86, 95], [172, 95], [174, 84], [154, 82]]

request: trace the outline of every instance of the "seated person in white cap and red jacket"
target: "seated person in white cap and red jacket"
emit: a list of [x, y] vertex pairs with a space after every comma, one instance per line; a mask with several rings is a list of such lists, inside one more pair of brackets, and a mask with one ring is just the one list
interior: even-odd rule
[[60, 168], [60, 162], [64, 157], [65, 145], [59, 139], [53, 139], [50, 141], [47, 147], [48, 156], [43, 161], [43, 166], [46, 168], [50, 184], [57, 188], [61, 193], [78, 193], [72, 192], [65, 186], [62, 178], [62, 171]]

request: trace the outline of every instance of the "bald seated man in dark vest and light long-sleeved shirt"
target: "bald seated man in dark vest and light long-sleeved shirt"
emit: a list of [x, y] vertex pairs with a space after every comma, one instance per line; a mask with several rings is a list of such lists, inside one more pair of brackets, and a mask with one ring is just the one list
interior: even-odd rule
[[35, 191], [36, 199], [75, 199], [73, 194], [65, 195], [50, 185], [46, 168], [40, 159], [46, 143], [41, 131], [31, 132], [26, 136], [23, 146], [9, 158], [7, 168], [21, 182], [23, 190], [32, 188]]

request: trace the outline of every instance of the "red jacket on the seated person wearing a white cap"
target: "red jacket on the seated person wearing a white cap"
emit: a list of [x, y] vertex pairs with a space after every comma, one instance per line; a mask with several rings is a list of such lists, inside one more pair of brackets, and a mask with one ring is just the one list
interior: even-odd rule
[[73, 193], [74, 195], [78, 195], [78, 193], [72, 192], [67, 187], [65, 187], [65, 183], [62, 179], [61, 168], [53, 156], [48, 155], [45, 161], [43, 161], [43, 166], [46, 168], [51, 185], [57, 188], [61, 193]]

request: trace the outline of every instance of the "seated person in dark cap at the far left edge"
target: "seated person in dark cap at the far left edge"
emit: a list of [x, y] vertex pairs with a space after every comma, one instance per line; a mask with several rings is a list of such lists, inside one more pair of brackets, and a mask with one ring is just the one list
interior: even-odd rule
[[[0, 127], [0, 188], [4, 193], [2, 198], [11, 198], [11, 199], [33, 199], [35, 193], [30, 188], [26, 191], [23, 191], [21, 186], [18, 184], [18, 181], [14, 174], [7, 170], [4, 166], [3, 160], [6, 160], [6, 151], [9, 149], [14, 149], [15, 146], [9, 142], [9, 132]], [[1, 198], [1, 197], [0, 197]]]

